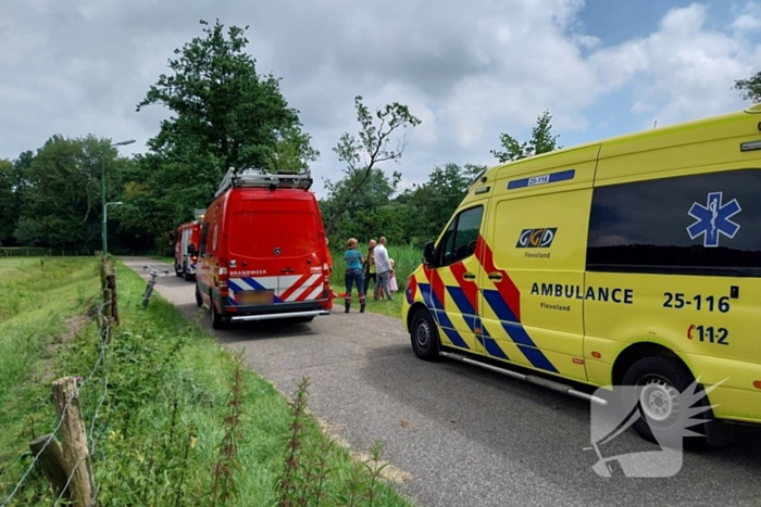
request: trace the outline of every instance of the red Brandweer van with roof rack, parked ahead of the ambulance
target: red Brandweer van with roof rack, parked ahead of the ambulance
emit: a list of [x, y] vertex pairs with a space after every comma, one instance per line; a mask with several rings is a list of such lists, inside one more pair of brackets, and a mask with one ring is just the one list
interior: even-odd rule
[[233, 169], [201, 225], [198, 306], [230, 322], [310, 321], [332, 307], [325, 231], [308, 174]]

